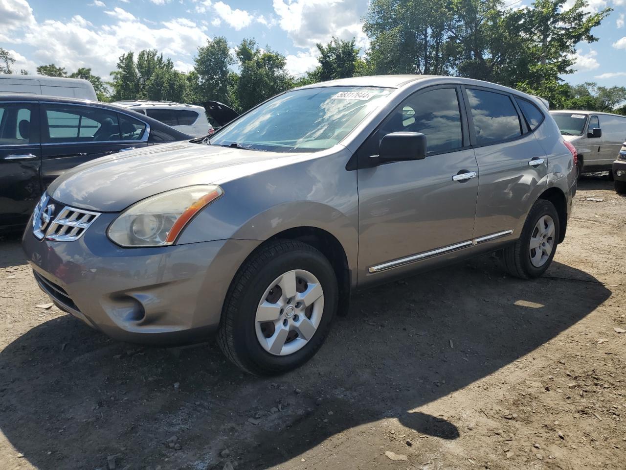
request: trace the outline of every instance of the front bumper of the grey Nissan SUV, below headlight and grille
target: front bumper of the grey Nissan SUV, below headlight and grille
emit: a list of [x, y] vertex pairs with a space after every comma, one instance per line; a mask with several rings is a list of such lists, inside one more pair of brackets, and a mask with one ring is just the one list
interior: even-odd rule
[[101, 214], [76, 241], [39, 241], [32, 221], [22, 245], [56, 305], [118, 340], [178, 344], [207, 338], [228, 286], [260, 241], [218, 240], [120, 248], [106, 237], [116, 214]]

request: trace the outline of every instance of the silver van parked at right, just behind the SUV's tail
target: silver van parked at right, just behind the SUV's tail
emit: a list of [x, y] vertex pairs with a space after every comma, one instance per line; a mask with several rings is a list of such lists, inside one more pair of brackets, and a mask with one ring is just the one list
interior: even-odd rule
[[578, 175], [608, 170], [626, 138], [626, 116], [593, 111], [550, 111], [563, 138], [578, 152]]

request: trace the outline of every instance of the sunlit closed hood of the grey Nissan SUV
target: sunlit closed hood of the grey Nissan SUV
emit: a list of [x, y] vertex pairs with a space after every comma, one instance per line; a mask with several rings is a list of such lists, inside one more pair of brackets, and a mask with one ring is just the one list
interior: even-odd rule
[[119, 212], [160, 192], [193, 184], [219, 184], [289, 163], [297, 155], [302, 158], [305, 154], [172, 142], [79, 165], [54, 180], [48, 194], [68, 206]]

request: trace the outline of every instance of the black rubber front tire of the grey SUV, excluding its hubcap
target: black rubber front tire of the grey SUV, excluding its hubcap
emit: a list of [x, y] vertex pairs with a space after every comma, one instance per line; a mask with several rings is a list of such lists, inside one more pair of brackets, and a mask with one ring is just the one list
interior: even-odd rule
[[[324, 310], [313, 337], [290, 355], [273, 355], [261, 347], [255, 315], [267, 287], [280, 274], [305, 269], [314, 274], [324, 291]], [[222, 308], [218, 344], [237, 367], [253, 375], [277, 375], [307, 362], [324, 343], [339, 298], [337, 278], [326, 257], [300, 241], [277, 240], [262, 246], [239, 268]]]

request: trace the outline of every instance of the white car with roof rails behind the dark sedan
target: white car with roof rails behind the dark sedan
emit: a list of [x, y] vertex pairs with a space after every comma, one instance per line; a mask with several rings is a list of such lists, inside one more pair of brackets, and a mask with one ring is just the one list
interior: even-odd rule
[[116, 101], [115, 104], [145, 114], [189, 135], [199, 137], [215, 131], [202, 106], [146, 100]]

